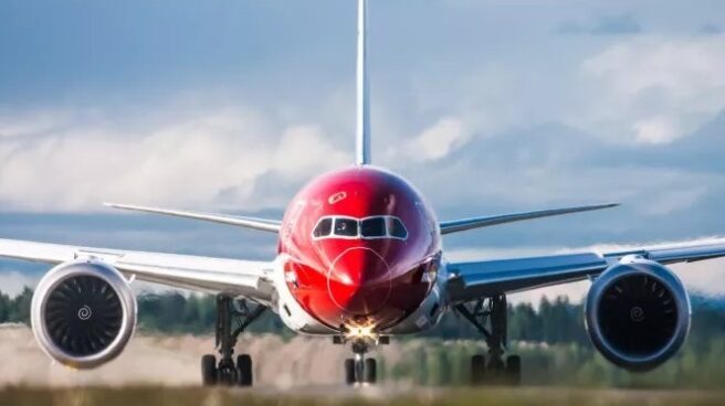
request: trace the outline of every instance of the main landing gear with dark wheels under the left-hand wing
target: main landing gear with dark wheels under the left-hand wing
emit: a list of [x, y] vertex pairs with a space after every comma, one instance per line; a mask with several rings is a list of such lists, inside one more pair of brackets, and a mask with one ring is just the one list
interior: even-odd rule
[[[234, 345], [244, 329], [256, 320], [266, 308], [252, 304], [248, 300], [234, 300], [227, 296], [217, 297], [217, 349], [220, 360], [213, 354], [201, 357], [201, 378], [204, 386], [238, 385], [252, 386], [252, 357], [240, 354], [234, 362]], [[233, 328], [233, 321], [237, 328]]]

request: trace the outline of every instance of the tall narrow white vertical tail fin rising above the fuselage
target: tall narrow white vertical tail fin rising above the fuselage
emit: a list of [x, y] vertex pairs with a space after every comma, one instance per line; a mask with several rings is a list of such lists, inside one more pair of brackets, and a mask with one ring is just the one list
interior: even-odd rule
[[356, 163], [370, 163], [370, 87], [368, 83], [368, 2], [357, 2], [357, 132]]

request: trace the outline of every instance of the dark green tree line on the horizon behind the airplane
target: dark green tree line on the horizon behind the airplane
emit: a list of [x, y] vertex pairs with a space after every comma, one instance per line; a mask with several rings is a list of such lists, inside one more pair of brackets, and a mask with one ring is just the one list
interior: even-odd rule
[[[29, 323], [33, 291], [25, 288], [15, 297], [0, 292], [0, 323]], [[725, 338], [725, 302], [695, 296], [690, 341], [705, 345], [711, 339]], [[166, 292], [138, 297], [139, 328], [164, 333], [212, 333], [216, 298], [209, 295]], [[267, 311], [252, 323], [252, 333], [290, 335], [276, 314]], [[439, 325], [423, 334], [442, 340], [479, 340], [480, 333], [462, 317], [448, 312]], [[538, 306], [508, 306], [508, 339], [515, 342], [547, 344], [588, 344], [581, 303], [567, 297], [543, 297]]]

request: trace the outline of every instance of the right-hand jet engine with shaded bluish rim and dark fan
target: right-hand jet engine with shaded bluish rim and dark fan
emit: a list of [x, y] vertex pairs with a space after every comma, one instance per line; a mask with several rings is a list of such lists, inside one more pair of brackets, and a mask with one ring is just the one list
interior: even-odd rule
[[629, 371], [655, 368], [690, 331], [690, 298], [670, 269], [637, 256], [609, 267], [591, 286], [585, 308], [599, 352]]

